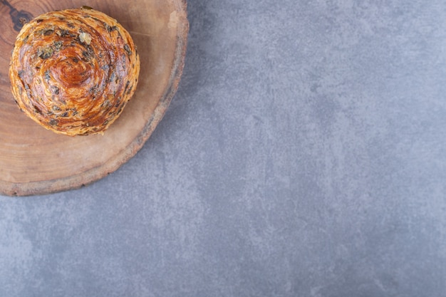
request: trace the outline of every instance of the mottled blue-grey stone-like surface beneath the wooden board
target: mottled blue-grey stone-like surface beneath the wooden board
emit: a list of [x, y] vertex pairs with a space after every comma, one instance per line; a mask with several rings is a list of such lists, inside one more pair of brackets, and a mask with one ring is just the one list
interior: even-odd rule
[[188, 10], [138, 155], [0, 198], [0, 296], [446, 296], [446, 2]]

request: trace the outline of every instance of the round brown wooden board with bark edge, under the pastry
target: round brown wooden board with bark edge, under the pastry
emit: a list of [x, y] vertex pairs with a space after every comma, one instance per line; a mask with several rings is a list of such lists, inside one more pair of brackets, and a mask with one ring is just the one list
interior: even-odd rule
[[[21, 113], [9, 86], [9, 59], [19, 21], [88, 5], [117, 19], [141, 59], [138, 88], [104, 135], [69, 137]], [[187, 46], [185, 0], [0, 0], [0, 194], [23, 196], [82, 187], [133, 157], [177, 90]], [[14, 23], [15, 22], [15, 23]]]

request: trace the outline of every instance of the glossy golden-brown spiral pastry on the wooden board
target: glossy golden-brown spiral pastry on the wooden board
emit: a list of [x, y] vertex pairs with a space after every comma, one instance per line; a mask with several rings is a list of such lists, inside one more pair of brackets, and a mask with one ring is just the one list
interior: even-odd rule
[[86, 6], [48, 12], [25, 24], [9, 68], [21, 110], [65, 135], [103, 133], [132, 97], [139, 73], [128, 31]]

